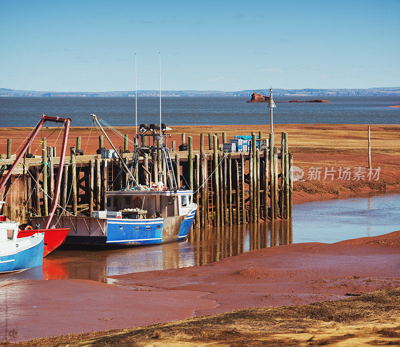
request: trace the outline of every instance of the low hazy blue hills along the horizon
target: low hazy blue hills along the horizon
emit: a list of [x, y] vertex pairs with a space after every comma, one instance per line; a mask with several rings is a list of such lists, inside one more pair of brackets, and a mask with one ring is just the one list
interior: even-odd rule
[[[222, 90], [162, 90], [162, 96], [227, 96], [250, 97], [253, 93], [269, 95], [269, 89], [249, 89], [240, 91], [222, 91]], [[373, 95], [398, 95], [400, 96], [400, 87], [379, 87], [368, 89], [273, 89], [273, 95], [279, 96], [373, 96]], [[104, 91], [104, 92], [61, 92], [61, 91], [35, 91], [35, 90], [17, 90], [0, 88], [1, 96], [22, 96], [22, 97], [134, 97], [134, 91]], [[137, 96], [158, 96], [158, 90], [138, 90]]]

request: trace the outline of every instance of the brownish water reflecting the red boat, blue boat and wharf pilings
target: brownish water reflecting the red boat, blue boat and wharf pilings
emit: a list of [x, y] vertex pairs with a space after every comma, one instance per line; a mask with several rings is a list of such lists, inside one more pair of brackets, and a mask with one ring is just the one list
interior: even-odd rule
[[109, 276], [205, 265], [292, 242], [291, 221], [191, 230], [187, 241], [135, 248], [63, 246], [43, 260], [43, 279], [113, 283]]

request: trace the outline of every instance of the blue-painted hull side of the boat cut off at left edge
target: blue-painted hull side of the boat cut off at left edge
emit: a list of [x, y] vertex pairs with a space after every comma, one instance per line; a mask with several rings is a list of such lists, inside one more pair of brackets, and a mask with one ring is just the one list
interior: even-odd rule
[[40, 242], [27, 249], [22, 249], [15, 254], [0, 256], [0, 273], [21, 271], [41, 266], [43, 262], [43, 242], [44, 236], [41, 236]]

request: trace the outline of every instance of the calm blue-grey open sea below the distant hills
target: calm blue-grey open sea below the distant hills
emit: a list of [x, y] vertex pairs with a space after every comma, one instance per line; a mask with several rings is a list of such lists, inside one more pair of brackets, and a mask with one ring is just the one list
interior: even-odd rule
[[[316, 96], [278, 97], [276, 101], [312, 100]], [[276, 103], [274, 123], [398, 124], [400, 97], [323, 96], [330, 103]], [[163, 97], [162, 121], [169, 125], [267, 124], [267, 103], [243, 97]], [[34, 126], [38, 115], [70, 117], [73, 126], [91, 125], [95, 113], [111, 125], [134, 125], [134, 98], [1, 97], [0, 127]], [[157, 97], [137, 99], [138, 123], [158, 123]]]

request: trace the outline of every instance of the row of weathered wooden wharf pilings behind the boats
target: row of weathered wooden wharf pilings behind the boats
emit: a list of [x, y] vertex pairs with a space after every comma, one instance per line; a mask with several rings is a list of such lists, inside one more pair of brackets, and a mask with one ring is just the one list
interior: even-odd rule
[[[262, 139], [262, 133], [258, 136]], [[102, 138], [99, 146], [102, 147]], [[193, 201], [198, 205], [194, 228], [209, 225], [245, 224], [260, 220], [291, 219], [292, 154], [288, 150], [287, 133], [281, 133], [280, 148], [274, 146], [274, 134], [269, 134], [269, 146], [256, 148], [252, 133], [250, 152], [222, 152], [218, 136], [208, 134], [208, 149], [204, 149], [204, 134], [200, 134], [199, 150], [193, 150], [193, 138], [187, 137], [187, 151], [172, 152], [173, 167], [178, 187], [193, 190]], [[222, 134], [226, 142], [226, 134]], [[258, 141], [258, 140], [257, 140]], [[185, 135], [182, 134], [182, 143]], [[77, 139], [79, 148], [80, 139]], [[54, 163], [55, 149], [48, 150], [42, 143], [40, 164], [27, 167], [27, 216], [46, 216], [54, 196], [54, 182], [58, 171]], [[123, 150], [127, 147], [127, 135]], [[175, 149], [172, 141], [172, 149]], [[259, 146], [262, 147], [262, 146]], [[51, 148], [51, 147], [50, 147]], [[104, 192], [124, 189], [127, 175], [119, 159], [100, 159], [99, 156], [76, 156], [70, 148], [69, 163], [64, 164], [57, 215], [91, 216], [93, 210], [104, 210]], [[129, 154], [125, 156], [128, 164]], [[131, 156], [131, 154], [130, 154]], [[157, 181], [161, 168], [164, 184], [166, 170], [160, 153], [143, 154], [139, 158], [137, 181], [149, 185]]]

